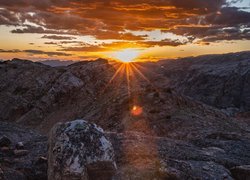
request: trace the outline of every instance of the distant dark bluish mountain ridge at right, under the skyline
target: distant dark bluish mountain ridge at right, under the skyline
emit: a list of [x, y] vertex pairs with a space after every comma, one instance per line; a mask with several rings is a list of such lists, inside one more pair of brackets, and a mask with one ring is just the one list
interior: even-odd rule
[[229, 115], [250, 111], [249, 52], [163, 60], [157, 64], [160, 74], [178, 92]]

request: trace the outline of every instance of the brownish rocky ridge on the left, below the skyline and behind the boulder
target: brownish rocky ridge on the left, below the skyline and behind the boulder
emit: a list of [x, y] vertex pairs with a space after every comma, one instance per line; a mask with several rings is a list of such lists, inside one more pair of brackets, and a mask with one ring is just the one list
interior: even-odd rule
[[0, 64], [0, 121], [48, 132], [59, 121], [82, 117], [113, 71], [105, 60], [57, 68], [5, 61]]

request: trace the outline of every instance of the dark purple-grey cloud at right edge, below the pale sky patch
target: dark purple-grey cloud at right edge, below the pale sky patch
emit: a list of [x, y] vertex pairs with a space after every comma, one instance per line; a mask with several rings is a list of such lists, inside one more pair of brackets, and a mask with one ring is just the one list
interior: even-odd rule
[[204, 17], [189, 19], [193, 26], [184, 25], [170, 31], [204, 42], [249, 40], [250, 13], [235, 7], [225, 7]]

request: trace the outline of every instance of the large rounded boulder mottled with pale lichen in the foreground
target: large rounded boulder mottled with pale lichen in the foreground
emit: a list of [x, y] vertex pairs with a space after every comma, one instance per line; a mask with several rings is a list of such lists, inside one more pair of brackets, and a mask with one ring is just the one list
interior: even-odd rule
[[56, 124], [49, 137], [49, 180], [112, 179], [112, 144], [101, 128], [84, 120]]

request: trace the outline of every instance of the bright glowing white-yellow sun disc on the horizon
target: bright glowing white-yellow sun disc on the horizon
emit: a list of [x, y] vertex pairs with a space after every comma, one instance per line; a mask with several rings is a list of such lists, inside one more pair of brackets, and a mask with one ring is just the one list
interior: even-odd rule
[[135, 61], [139, 54], [140, 51], [137, 49], [124, 49], [122, 51], [112, 53], [112, 57], [126, 63]]

